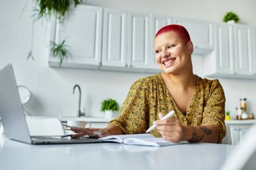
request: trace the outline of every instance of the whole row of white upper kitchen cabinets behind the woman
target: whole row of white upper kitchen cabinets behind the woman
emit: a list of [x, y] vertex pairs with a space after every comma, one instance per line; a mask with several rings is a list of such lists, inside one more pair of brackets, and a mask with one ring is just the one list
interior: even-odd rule
[[[159, 73], [154, 38], [169, 24], [187, 28], [205, 76], [256, 78], [256, 28], [241, 24], [77, 5], [63, 23], [53, 21], [51, 41], [70, 47], [61, 67]], [[50, 56], [49, 65], [59, 59]]]

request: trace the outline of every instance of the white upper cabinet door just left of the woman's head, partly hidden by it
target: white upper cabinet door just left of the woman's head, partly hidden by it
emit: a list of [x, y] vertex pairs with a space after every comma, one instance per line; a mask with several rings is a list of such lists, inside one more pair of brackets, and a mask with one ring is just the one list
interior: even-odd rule
[[172, 24], [172, 17], [167, 16], [167, 15], [158, 15], [158, 14], [152, 14], [151, 15], [151, 39], [150, 39], [150, 44], [151, 44], [151, 48], [150, 48], [150, 60], [149, 60], [149, 64], [151, 69], [155, 69], [156, 71], [159, 72], [159, 67], [156, 63], [155, 60], [155, 50], [154, 50], [154, 40], [155, 40], [155, 36], [156, 33], [164, 26], [168, 26]]

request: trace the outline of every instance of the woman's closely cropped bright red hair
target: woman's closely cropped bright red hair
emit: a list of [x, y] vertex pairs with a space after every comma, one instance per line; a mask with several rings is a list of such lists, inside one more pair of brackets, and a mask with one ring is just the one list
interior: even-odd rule
[[164, 26], [156, 33], [155, 38], [165, 32], [176, 32], [184, 40], [185, 43], [189, 42], [190, 40], [189, 32], [187, 32], [186, 28], [176, 24]]

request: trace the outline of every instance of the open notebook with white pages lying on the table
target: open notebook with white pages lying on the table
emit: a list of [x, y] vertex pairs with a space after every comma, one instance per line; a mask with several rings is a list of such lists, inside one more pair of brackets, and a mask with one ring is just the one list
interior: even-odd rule
[[104, 142], [119, 142], [124, 144], [135, 144], [144, 146], [169, 146], [175, 144], [187, 144], [187, 140], [180, 142], [169, 142], [164, 138], [156, 138], [152, 134], [122, 134], [122, 135], [111, 135], [103, 138], [99, 138]]

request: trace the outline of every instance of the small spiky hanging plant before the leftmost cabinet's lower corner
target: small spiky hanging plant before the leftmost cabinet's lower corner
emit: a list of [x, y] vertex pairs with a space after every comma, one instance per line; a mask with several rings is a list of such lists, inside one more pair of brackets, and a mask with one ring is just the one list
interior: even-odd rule
[[65, 44], [65, 40], [63, 40], [59, 44], [56, 44], [55, 42], [51, 42], [50, 45], [51, 45], [51, 56], [59, 58], [59, 67], [61, 67], [61, 64], [64, 58], [67, 56], [70, 56], [70, 52], [67, 50], [69, 46]]

